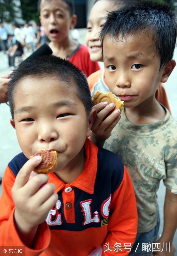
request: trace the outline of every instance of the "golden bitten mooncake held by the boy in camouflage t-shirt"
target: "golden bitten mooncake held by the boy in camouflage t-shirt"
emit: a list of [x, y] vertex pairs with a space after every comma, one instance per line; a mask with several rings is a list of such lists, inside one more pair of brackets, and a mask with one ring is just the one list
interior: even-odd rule
[[[108, 104], [114, 103], [114, 105], [115, 105], [114, 109], [109, 113], [109, 115], [116, 108], [118, 108], [122, 112], [123, 107], [124, 107], [124, 101], [121, 101], [116, 95], [114, 95], [110, 91], [108, 93], [101, 93], [101, 91], [99, 91], [99, 90], [96, 91], [96, 93], [93, 95], [93, 98], [92, 98], [93, 106], [100, 102], [103, 102], [103, 101], [107, 101]], [[121, 114], [121, 112], [120, 112], [120, 114]]]

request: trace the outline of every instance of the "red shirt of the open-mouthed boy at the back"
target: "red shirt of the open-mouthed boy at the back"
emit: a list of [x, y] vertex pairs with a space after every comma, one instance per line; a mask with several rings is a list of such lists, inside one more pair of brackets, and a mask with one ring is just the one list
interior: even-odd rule
[[88, 49], [83, 44], [80, 45], [79, 50], [74, 55], [70, 56], [69, 61], [84, 71], [87, 77], [100, 69], [97, 62], [91, 61]]

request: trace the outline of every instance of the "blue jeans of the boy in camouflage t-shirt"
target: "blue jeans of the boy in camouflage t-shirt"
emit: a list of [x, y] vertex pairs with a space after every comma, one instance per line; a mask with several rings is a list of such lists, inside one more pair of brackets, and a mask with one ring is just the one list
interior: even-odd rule
[[137, 233], [135, 243], [129, 253], [129, 256], [152, 256], [152, 243], [157, 241], [159, 226], [160, 215], [158, 212], [157, 225], [149, 232]]

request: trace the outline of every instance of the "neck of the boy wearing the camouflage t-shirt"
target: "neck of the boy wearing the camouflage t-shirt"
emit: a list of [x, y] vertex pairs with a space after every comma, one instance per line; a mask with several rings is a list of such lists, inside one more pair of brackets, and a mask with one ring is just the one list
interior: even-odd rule
[[135, 125], [157, 123], [166, 115], [165, 110], [156, 99], [150, 105], [144, 102], [135, 108], [125, 108], [125, 113], [128, 120]]

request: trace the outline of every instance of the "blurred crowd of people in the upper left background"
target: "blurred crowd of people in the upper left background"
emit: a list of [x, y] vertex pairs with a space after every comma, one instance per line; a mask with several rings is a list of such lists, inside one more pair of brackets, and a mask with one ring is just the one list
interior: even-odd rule
[[19, 61], [22, 59], [24, 48], [35, 51], [47, 40], [43, 26], [37, 23], [25, 23], [23, 26], [14, 24], [13, 29], [13, 34], [10, 34], [4, 23], [0, 23], [0, 50], [8, 56], [9, 67], [15, 66], [16, 57]]

